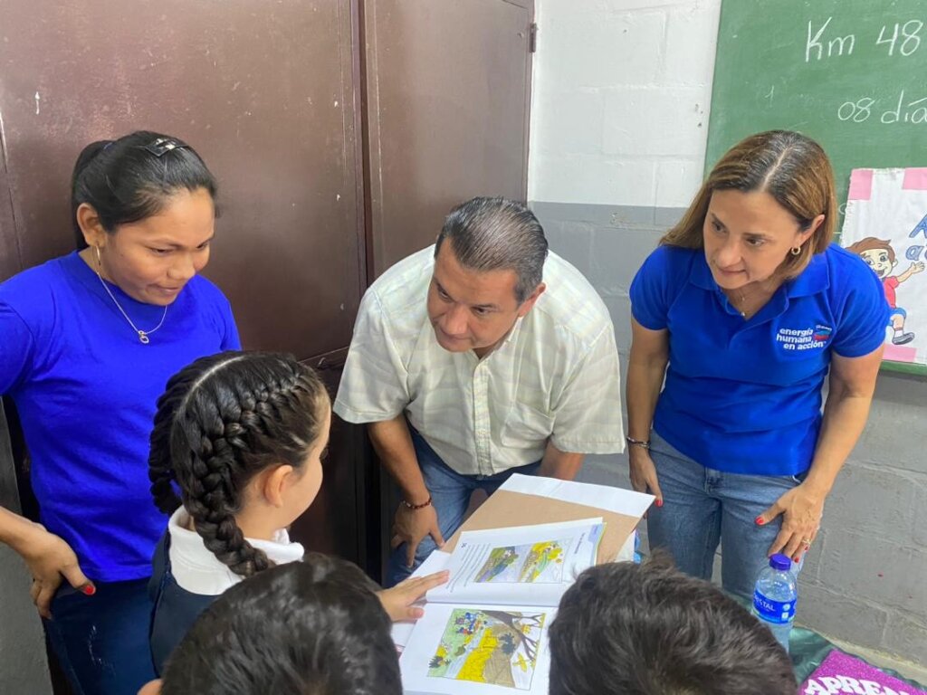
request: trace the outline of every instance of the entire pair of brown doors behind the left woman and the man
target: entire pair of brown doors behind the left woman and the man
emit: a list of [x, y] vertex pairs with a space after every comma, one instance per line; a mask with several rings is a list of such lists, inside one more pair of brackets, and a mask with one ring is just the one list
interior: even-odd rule
[[[220, 182], [207, 274], [245, 346], [321, 364], [334, 393], [368, 276], [430, 243], [460, 200], [525, 197], [531, 17], [530, 0], [6, 0], [0, 279], [73, 247], [83, 145], [176, 134]], [[295, 526], [310, 548], [365, 559], [379, 494], [365, 446], [336, 424]]]

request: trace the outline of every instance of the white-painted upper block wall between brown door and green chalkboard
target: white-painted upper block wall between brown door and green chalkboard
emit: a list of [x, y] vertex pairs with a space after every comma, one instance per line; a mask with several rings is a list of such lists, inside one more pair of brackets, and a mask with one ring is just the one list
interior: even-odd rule
[[688, 206], [720, 0], [537, 0], [528, 200]]

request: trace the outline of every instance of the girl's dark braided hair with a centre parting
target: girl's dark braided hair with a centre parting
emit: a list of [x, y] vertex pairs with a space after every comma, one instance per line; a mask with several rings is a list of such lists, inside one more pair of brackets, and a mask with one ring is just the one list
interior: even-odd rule
[[158, 399], [148, 456], [155, 504], [170, 514], [183, 503], [206, 547], [235, 574], [267, 569], [271, 561], [248, 543], [235, 513], [260, 471], [302, 467], [324, 434], [327, 403], [319, 376], [290, 355], [228, 351], [184, 367]]

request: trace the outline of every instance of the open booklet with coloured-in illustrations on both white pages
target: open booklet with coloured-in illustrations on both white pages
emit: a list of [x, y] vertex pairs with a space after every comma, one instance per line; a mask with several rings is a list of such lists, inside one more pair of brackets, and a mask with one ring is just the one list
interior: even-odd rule
[[405, 693], [546, 693], [547, 629], [603, 529], [597, 518], [464, 532], [402, 651]]

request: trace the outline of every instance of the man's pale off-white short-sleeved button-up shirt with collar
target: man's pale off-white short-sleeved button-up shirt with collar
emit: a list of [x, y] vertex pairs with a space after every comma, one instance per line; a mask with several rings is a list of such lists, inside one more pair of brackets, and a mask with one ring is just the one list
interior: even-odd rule
[[624, 450], [615, 331], [602, 299], [551, 253], [547, 289], [483, 360], [440, 347], [426, 300], [429, 246], [364, 294], [335, 400], [350, 423], [405, 412], [460, 474], [496, 474], [540, 461], [550, 440], [571, 453]]

